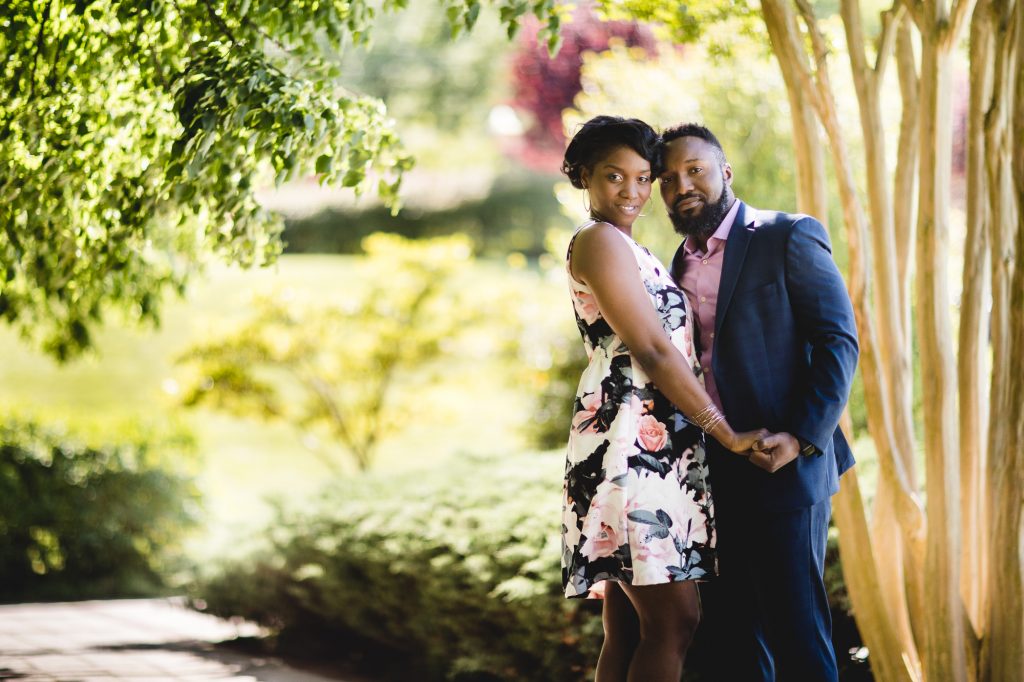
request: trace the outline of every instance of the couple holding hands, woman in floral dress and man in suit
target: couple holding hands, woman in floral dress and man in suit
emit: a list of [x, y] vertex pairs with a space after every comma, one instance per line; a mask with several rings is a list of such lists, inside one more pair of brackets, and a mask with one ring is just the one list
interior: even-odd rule
[[[678, 682], [698, 623], [716, 679], [837, 680], [822, 573], [858, 348], [827, 232], [736, 199], [695, 124], [597, 117], [562, 170], [590, 207], [566, 260], [589, 365], [562, 576], [604, 599], [597, 682]], [[632, 238], [655, 180], [669, 268]]]

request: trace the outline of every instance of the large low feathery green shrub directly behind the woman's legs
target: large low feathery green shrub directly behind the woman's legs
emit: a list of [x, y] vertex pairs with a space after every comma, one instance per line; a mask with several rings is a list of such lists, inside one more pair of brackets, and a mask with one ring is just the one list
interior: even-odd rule
[[[401, 680], [592, 679], [600, 602], [561, 595], [563, 465], [559, 453], [464, 457], [350, 478], [280, 512], [259, 549], [215, 567], [196, 596], [275, 629], [280, 652], [373, 651], [378, 677], [390, 666]], [[691, 682], [708, 665], [693, 658]]]

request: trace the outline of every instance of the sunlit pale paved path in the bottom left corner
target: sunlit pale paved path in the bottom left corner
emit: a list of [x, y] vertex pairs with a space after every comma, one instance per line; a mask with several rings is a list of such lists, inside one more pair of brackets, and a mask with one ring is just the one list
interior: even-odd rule
[[234, 624], [169, 599], [0, 606], [0, 680], [241, 680], [328, 682], [328, 678], [214, 646], [253, 636]]

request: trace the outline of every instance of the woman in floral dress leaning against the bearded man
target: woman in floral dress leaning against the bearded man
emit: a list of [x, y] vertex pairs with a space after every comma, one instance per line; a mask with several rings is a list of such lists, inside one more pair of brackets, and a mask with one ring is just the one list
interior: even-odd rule
[[686, 296], [632, 239], [657, 173], [657, 134], [599, 116], [562, 171], [591, 220], [566, 256], [590, 364], [577, 391], [565, 468], [567, 597], [604, 593], [597, 682], [677, 682], [699, 621], [694, 581], [716, 572], [703, 438], [737, 457], [767, 431], [736, 433], [699, 379]]

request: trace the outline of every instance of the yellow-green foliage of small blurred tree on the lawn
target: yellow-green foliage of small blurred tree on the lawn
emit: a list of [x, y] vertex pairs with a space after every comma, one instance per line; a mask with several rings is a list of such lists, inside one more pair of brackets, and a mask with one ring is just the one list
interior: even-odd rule
[[420, 400], [397, 398], [435, 383], [459, 336], [484, 312], [465, 305], [456, 286], [465, 282], [470, 242], [378, 233], [364, 251], [365, 287], [343, 304], [300, 301], [294, 292], [261, 298], [230, 335], [187, 350], [182, 360], [198, 365], [198, 380], [184, 403], [326, 432], [360, 471], [381, 441], [429, 418]]

